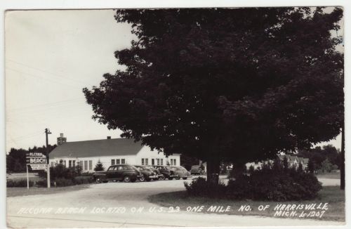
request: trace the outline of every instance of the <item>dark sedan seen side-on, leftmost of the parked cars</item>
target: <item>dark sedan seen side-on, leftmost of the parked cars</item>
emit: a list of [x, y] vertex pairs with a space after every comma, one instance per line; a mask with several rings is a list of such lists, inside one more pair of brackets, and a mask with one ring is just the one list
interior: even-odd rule
[[96, 183], [107, 183], [108, 181], [135, 182], [140, 178], [143, 178], [140, 171], [129, 164], [112, 165], [107, 171], [97, 171], [93, 174], [93, 179]]

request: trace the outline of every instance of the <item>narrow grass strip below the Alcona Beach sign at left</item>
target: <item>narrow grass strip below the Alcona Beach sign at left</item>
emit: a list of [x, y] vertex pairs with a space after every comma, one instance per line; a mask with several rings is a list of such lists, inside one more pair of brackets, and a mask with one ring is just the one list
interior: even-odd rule
[[71, 192], [75, 190], [81, 190], [84, 188], [88, 188], [89, 184], [82, 185], [73, 185], [67, 187], [51, 187], [51, 188], [6, 188], [7, 197], [17, 197], [24, 195], [45, 195], [45, 194], [53, 194], [58, 192]]

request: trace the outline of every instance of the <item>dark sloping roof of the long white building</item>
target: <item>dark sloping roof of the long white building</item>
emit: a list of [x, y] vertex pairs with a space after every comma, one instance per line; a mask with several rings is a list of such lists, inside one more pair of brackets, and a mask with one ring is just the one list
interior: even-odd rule
[[98, 157], [114, 155], [136, 155], [143, 145], [133, 139], [114, 138], [102, 140], [84, 140], [63, 143], [50, 152], [53, 157]]

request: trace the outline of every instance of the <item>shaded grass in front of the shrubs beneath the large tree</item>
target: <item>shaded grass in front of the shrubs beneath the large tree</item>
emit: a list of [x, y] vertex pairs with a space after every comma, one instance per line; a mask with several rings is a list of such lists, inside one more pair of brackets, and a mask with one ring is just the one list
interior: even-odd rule
[[[181, 211], [187, 211], [187, 207], [204, 206], [204, 213], [208, 213], [207, 209], [211, 206], [230, 206], [230, 211], [218, 214], [242, 215], [242, 216], [270, 216], [274, 217], [274, 207], [277, 204], [314, 204], [328, 203], [328, 210], [323, 214], [322, 221], [345, 221], [345, 191], [340, 190], [338, 186], [324, 186], [319, 191], [319, 197], [314, 200], [294, 201], [294, 202], [270, 202], [270, 201], [252, 201], [252, 200], [230, 200], [230, 199], [210, 199], [206, 197], [189, 197], [186, 191], [166, 192], [149, 197], [149, 201], [159, 204], [162, 207], [180, 207]], [[269, 204], [270, 207], [265, 211], [258, 211], [258, 206]], [[250, 205], [251, 211], [238, 211], [242, 205]], [[303, 210], [297, 210], [298, 215]], [[308, 210], [304, 210], [309, 212]], [[318, 211], [318, 210], [313, 210]], [[275, 216], [278, 217], [278, 216]], [[282, 216], [280, 216], [282, 217]], [[291, 218], [287, 216], [287, 218]], [[293, 217], [298, 218], [298, 217]]]

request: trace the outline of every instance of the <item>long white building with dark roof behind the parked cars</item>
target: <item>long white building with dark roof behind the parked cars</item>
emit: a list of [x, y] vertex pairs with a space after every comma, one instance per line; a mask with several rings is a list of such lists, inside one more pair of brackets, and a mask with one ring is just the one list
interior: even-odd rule
[[51, 166], [60, 162], [66, 167], [79, 164], [83, 171], [93, 171], [99, 160], [105, 169], [113, 164], [180, 165], [178, 154], [166, 157], [133, 139], [110, 137], [62, 143], [50, 152], [49, 158]]

